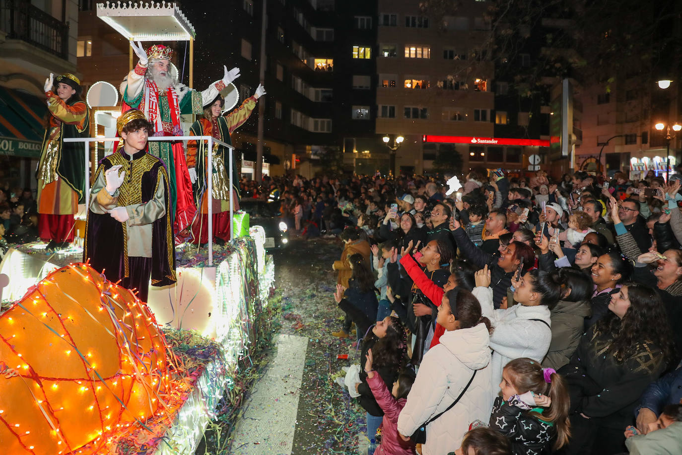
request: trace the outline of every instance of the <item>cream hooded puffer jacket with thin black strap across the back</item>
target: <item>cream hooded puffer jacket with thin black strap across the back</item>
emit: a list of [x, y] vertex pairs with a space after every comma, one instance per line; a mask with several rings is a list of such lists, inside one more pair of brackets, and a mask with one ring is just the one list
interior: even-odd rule
[[457, 450], [469, 424], [488, 422], [492, 410], [490, 392], [490, 336], [485, 324], [445, 332], [441, 342], [421, 360], [417, 378], [398, 417], [398, 431], [410, 436], [419, 425], [437, 415], [460, 395], [477, 370], [460, 401], [426, 427], [423, 455], [447, 455]]

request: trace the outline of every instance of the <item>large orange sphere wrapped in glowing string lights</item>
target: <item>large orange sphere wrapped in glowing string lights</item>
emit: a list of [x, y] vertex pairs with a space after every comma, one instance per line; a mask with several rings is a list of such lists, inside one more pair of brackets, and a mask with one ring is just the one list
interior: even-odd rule
[[130, 291], [84, 264], [54, 271], [0, 315], [0, 452], [103, 444], [156, 411], [167, 364], [161, 330]]

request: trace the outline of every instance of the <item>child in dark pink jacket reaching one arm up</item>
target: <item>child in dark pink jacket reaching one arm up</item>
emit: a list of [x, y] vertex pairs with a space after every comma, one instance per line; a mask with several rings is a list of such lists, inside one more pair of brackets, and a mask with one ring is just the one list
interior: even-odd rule
[[383, 379], [372, 370], [372, 349], [367, 351], [367, 383], [372, 389], [376, 402], [384, 411], [381, 421], [381, 444], [376, 447], [374, 455], [414, 455], [415, 445], [410, 441], [404, 441], [398, 435], [398, 415], [407, 402], [407, 394], [410, 393], [412, 383], [415, 381], [415, 373], [406, 369], [398, 376], [398, 381], [393, 383], [393, 390], [389, 392]]

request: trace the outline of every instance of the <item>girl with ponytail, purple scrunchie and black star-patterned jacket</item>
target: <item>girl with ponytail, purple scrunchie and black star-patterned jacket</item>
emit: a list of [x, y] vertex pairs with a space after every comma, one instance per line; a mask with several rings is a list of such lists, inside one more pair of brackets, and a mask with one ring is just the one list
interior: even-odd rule
[[553, 368], [542, 368], [527, 357], [514, 359], [502, 372], [500, 388], [490, 427], [509, 439], [514, 455], [540, 455], [568, 442], [568, 391]]

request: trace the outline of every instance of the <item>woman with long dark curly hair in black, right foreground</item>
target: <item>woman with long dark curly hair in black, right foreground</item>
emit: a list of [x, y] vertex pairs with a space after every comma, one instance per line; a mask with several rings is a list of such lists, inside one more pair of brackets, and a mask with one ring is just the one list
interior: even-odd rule
[[571, 396], [567, 454], [625, 452], [623, 428], [633, 423], [644, 389], [672, 359], [671, 340], [654, 288], [629, 282], [612, 295], [608, 314], [582, 336], [559, 371]]

